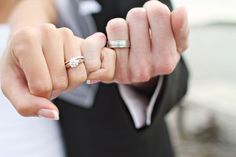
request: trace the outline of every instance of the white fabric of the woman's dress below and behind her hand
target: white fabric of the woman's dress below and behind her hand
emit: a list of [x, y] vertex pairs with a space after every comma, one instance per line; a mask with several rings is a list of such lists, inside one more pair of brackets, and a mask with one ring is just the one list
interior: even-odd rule
[[[9, 32], [8, 25], [0, 25], [0, 55]], [[21, 117], [0, 90], [0, 157], [65, 157], [64, 154], [58, 123]]]

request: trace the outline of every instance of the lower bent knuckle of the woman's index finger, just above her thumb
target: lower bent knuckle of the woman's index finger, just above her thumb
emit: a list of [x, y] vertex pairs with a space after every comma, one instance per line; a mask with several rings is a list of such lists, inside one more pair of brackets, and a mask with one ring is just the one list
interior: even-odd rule
[[29, 85], [30, 91], [33, 95], [50, 98], [52, 92], [52, 85], [46, 81], [35, 81]]

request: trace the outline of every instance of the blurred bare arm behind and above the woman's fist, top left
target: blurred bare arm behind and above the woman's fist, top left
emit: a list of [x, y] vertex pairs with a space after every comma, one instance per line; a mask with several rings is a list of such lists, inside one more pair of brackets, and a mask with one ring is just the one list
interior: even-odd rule
[[12, 32], [25, 26], [56, 23], [54, 0], [22, 0], [12, 11], [8, 22]]

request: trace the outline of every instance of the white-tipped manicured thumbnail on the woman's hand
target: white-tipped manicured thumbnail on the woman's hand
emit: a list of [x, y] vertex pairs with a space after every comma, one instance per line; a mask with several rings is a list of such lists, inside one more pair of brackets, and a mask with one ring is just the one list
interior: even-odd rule
[[41, 109], [38, 111], [38, 116], [50, 120], [59, 120], [59, 113], [55, 110]]

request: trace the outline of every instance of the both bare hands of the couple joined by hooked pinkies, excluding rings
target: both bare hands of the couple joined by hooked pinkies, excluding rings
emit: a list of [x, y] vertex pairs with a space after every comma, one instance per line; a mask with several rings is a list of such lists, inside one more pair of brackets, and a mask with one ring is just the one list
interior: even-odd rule
[[[130, 40], [131, 48], [115, 49], [115, 54], [104, 48], [102, 33], [83, 40], [50, 24], [22, 27], [12, 35], [1, 63], [4, 94], [23, 116], [57, 119], [58, 109], [49, 99], [86, 79], [147, 85], [150, 78], [170, 74], [188, 47], [187, 12], [170, 12], [164, 4], [149, 1], [130, 10], [126, 20], [109, 21], [107, 35], [109, 40]], [[66, 70], [65, 61], [78, 55], [84, 55], [85, 65]]]

